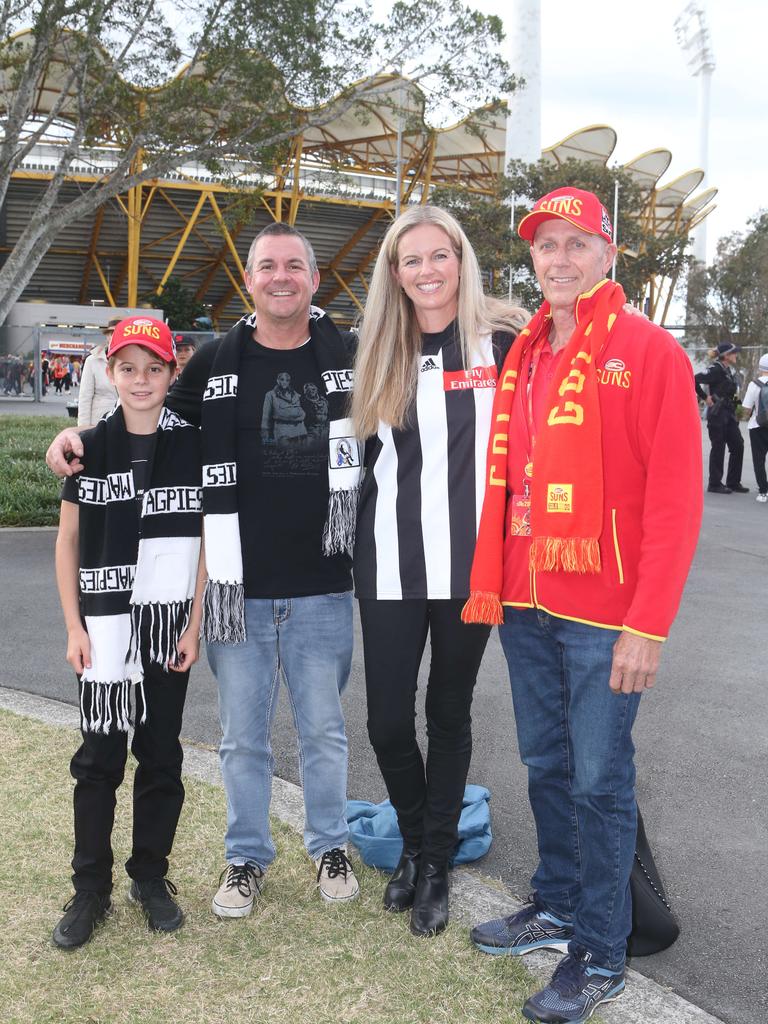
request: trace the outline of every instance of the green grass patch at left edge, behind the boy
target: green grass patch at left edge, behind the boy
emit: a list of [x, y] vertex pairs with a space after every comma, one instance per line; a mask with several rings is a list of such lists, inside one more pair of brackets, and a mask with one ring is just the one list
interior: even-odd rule
[[72, 420], [0, 417], [0, 526], [55, 526], [60, 482], [45, 465], [51, 440]]

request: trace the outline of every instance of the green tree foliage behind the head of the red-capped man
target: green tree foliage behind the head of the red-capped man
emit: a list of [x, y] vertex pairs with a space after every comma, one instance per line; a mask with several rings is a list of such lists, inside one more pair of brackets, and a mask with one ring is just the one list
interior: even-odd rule
[[475, 248], [480, 266], [497, 294], [508, 293], [508, 267], [513, 271], [513, 294], [521, 305], [536, 309], [542, 300], [534, 275], [528, 244], [510, 230], [529, 212], [532, 203], [555, 188], [572, 185], [599, 197], [613, 219], [613, 189], [618, 182], [616, 280], [628, 299], [642, 302], [646, 283], [654, 274], [674, 276], [686, 264], [686, 239], [655, 239], [640, 217], [647, 194], [621, 167], [567, 160], [553, 164], [513, 161], [508, 175], [493, 196], [472, 196], [458, 189], [435, 189], [432, 202], [444, 206], [462, 223]]

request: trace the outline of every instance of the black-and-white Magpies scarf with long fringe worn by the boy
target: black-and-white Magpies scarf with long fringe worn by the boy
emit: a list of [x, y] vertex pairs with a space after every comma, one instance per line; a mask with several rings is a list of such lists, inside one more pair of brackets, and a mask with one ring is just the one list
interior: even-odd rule
[[91, 667], [81, 679], [81, 720], [86, 731], [126, 731], [130, 687], [143, 682], [142, 655], [167, 671], [189, 622], [203, 510], [200, 434], [162, 410], [140, 510], [120, 406], [83, 443], [80, 607]]

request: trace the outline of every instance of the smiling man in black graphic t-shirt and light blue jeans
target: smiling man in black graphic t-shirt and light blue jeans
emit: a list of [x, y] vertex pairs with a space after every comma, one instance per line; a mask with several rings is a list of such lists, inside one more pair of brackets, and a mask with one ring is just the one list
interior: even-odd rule
[[[281, 675], [298, 732], [304, 843], [321, 895], [344, 902], [358, 892], [346, 853], [347, 742], [340, 700], [352, 653], [350, 559], [323, 549], [334, 468], [328, 400], [350, 386], [351, 338], [310, 306], [319, 275], [311, 246], [294, 228], [270, 224], [256, 237], [245, 282], [255, 313], [221, 341], [202, 345], [167, 400], [173, 412], [200, 424], [204, 392], [216, 399], [211, 380], [223, 379], [212, 377], [219, 346], [239, 345], [234, 471], [246, 639], [208, 644], [219, 687], [228, 810], [226, 867], [213, 898], [213, 911], [222, 918], [251, 912], [274, 857], [269, 734]], [[334, 367], [321, 366], [321, 345], [324, 352], [333, 349]], [[48, 464], [70, 475], [78, 461], [68, 466], [63, 454], [77, 455], [79, 438], [65, 434], [51, 445]], [[207, 548], [216, 530], [215, 521], [208, 529], [209, 520], [222, 518], [207, 512]]]

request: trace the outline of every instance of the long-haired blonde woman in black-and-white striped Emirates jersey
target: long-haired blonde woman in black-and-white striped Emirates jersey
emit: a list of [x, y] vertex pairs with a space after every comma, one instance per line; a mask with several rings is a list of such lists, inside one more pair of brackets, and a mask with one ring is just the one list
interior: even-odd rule
[[[488, 628], [465, 626], [498, 368], [527, 314], [482, 293], [472, 247], [437, 207], [390, 226], [360, 327], [352, 418], [367, 440], [354, 552], [368, 729], [403, 838], [384, 893], [411, 931], [447, 923], [447, 870]], [[416, 688], [427, 636], [426, 761]]]

